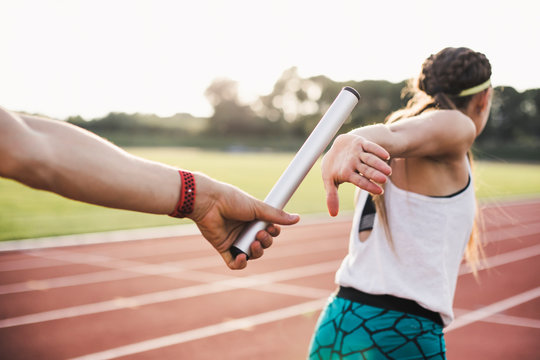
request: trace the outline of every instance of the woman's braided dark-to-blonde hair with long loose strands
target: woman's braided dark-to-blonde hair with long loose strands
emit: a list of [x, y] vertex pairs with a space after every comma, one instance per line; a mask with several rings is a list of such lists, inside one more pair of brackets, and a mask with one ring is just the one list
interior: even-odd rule
[[[403, 96], [411, 96], [407, 105], [390, 114], [385, 123], [416, 116], [429, 110], [464, 110], [474, 95], [460, 97], [458, 94], [464, 89], [485, 82], [490, 77], [491, 65], [484, 54], [468, 48], [445, 48], [424, 61], [418, 78], [411, 80], [402, 92]], [[470, 151], [467, 155], [472, 169], [473, 156]], [[384, 195], [373, 196], [373, 202], [393, 247]], [[477, 206], [473, 229], [465, 249], [465, 259], [475, 276], [478, 264], [485, 257], [479, 234], [480, 224]]]

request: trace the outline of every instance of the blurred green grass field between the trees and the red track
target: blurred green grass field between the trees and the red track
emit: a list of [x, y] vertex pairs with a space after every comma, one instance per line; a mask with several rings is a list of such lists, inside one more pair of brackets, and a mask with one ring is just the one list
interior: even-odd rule
[[[264, 199], [294, 156], [293, 153], [223, 153], [181, 148], [130, 148], [128, 151], [147, 159], [202, 171], [260, 199]], [[326, 211], [319, 169], [319, 164], [312, 169], [286, 210], [300, 214]], [[481, 199], [540, 194], [538, 164], [477, 162], [476, 178]], [[350, 184], [340, 188], [342, 210], [352, 210], [353, 193]], [[87, 205], [0, 179], [0, 240], [183, 222], [189, 220]]]

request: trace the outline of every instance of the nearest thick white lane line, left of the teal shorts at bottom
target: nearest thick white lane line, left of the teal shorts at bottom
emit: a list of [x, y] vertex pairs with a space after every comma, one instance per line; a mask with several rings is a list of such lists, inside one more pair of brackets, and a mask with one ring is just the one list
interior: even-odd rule
[[312, 300], [298, 305], [272, 310], [257, 315], [247, 316], [240, 319], [225, 321], [219, 324], [209, 325], [198, 329], [188, 330], [155, 339], [141, 341], [114, 349], [105, 350], [93, 354], [84, 355], [72, 360], [102, 360], [121, 356], [133, 355], [145, 351], [160, 349], [166, 346], [178, 345], [188, 341], [203, 339], [210, 336], [225, 334], [237, 330], [251, 329], [257, 325], [313, 313], [320, 310], [326, 303], [327, 298]]

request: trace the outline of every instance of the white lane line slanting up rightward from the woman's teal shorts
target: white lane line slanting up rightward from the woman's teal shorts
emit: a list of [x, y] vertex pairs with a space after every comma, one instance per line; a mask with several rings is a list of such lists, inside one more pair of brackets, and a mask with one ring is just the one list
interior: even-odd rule
[[492, 315], [508, 310], [515, 306], [521, 305], [528, 301], [534, 300], [540, 296], [540, 286], [529, 291], [525, 291], [521, 294], [509, 297], [507, 299], [498, 301], [491, 305], [485, 306], [478, 310], [473, 310], [464, 315], [456, 318], [450, 326], [445, 329], [445, 332], [450, 332], [461, 327], [467, 326], [477, 321], [486, 319]]

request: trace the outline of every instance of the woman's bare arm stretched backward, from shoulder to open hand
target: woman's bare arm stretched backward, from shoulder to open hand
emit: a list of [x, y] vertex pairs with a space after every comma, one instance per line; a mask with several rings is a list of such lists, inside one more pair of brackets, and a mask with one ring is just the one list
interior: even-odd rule
[[476, 136], [473, 121], [457, 110], [439, 110], [391, 124], [358, 128], [340, 135], [322, 163], [327, 206], [332, 216], [339, 211], [337, 189], [350, 182], [373, 194], [381, 194], [390, 166], [399, 157], [443, 158], [462, 156]]

